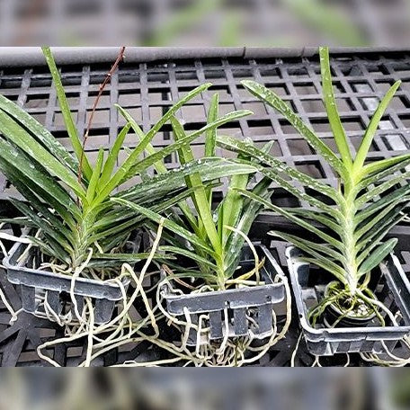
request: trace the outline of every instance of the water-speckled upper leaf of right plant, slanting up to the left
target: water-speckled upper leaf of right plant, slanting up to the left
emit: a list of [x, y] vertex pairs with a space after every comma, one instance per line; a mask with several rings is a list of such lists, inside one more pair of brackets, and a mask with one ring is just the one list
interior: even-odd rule
[[299, 133], [306, 138], [307, 142], [313, 147], [318, 154], [323, 156], [325, 160], [334, 167], [334, 170], [341, 176], [347, 176], [347, 170], [343, 162], [334, 155], [334, 152], [325, 145], [325, 143], [316, 136], [316, 134], [307, 127], [307, 125], [300, 120], [298, 115], [293, 112], [289, 105], [281, 100], [281, 97], [274, 94], [271, 90], [263, 85], [255, 83], [254, 81], [244, 80], [241, 84], [252, 94], [258, 97], [265, 103], [268, 103], [276, 110], [280, 111], [289, 121], [290, 124], [299, 131]]

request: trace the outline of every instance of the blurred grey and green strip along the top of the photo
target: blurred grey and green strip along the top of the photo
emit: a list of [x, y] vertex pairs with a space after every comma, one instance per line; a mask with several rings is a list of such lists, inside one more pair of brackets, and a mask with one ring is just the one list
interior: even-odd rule
[[410, 0], [0, 0], [0, 45], [406, 46]]

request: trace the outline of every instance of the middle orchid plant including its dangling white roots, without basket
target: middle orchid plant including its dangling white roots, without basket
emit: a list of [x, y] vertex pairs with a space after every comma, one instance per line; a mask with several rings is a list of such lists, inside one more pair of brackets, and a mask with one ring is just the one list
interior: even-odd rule
[[[218, 118], [218, 94], [214, 95], [210, 107], [208, 121], [212, 122]], [[127, 117], [132, 123], [132, 119]], [[171, 119], [174, 130], [175, 141], [186, 138], [183, 124], [175, 117]], [[138, 129], [137, 129], [138, 134]], [[209, 129], [205, 138], [205, 157], [199, 161], [207, 161], [216, 155], [216, 129]], [[272, 144], [263, 147], [263, 152], [269, 152]], [[147, 146], [150, 154], [154, 147]], [[178, 156], [182, 166], [193, 161], [192, 147], [187, 144], [178, 149]], [[291, 317], [290, 289], [284, 278], [276, 277], [275, 280], [283, 281], [286, 290], [286, 320], [278, 329], [276, 316], [273, 314], [272, 335], [263, 343], [254, 345], [252, 334], [243, 337], [230, 337], [227, 331], [229, 327], [229, 316], [227, 309], [224, 310], [224, 337], [218, 342], [201, 343], [201, 337], [205, 340], [209, 335], [209, 315], [199, 315], [198, 323], [192, 321], [188, 310], [185, 316], [174, 316], [163, 307], [163, 285], [174, 281], [178, 287], [173, 287], [175, 295], [181, 294], [183, 290], [192, 295], [212, 290], [229, 290], [234, 287], [251, 287], [263, 285], [259, 281], [259, 269], [263, 266], [263, 260], [258, 259], [254, 245], [250, 242], [247, 234], [254, 218], [258, 215], [263, 205], [257, 201], [245, 198], [236, 190], [248, 189], [254, 195], [269, 200], [272, 192], [269, 187], [272, 183], [269, 177], [264, 177], [259, 183], [251, 188], [253, 174], [257, 170], [250, 156], [239, 155], [231, 160], [236, 165], [235, 174], [226, 174], [228, 177], [227, 193], [214, 208], [212, 203], [216, 200], [213, 192], [214, 185], [206, 185], [200, 173], [192, 173], [186, 176], [185, 181], [191, 189], [191, 197], [180, 201], [172, 209], [165, 211], [163, 215], [153, 209], [147, 209], [135, 202], [126, 201], [122, 198], [113, 198], [111, 201], [128, 206], [136, 212], [151, 219], [153, 225], [164, 227], [162, 233], [166, 245], [158, 247], [158, 252], [165, 254], [176, 254], [183, 256], [185, 264], [178, 259], [167, 261], [163, 265], [166, 276], [157, 286], [156, 308], [165, 316], [168, 325], [175, 326], [181, 333], [181, 340], [177, 343], [168, 343], [169, 348], [175, 354], [176, 361], [185, 361], [187, 364], [196, 366], [234, 365], [241, 366], [245, 363], [257, 361], [268, 349], [277, 343], [286, 334]], [[164, 171], [164, 164], [156, 164], [156, 171]], [[193, 208], [190, 206], [192, 202]], [[214, 203], [214, 205], [216, 205]], [[249, 272], [237, 272], [240, 256], [245, 242], [254, 250], [254, 268]], [[252, 320], [249, 317], [249, 320]], [[197, 334], [195, 347], [187, 344], [189, 334], [194, 331]], [[156, 338], [156, 343], [159, 339]], [[194, 351], [194, 352], [192, 352]], [[137, 363], [134, 363], [137, 365]]]

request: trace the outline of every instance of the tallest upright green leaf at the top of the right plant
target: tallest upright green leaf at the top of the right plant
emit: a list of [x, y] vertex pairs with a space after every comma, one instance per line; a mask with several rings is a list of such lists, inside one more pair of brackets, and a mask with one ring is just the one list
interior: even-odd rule
[[327, 47], [319, 48], [320, 55], [320, 72], [322, 75], [323, 99], [330, 127], [334, 135], [334, 141], [342, 156], [343, 164], [347, 169], [352, 168], [352, 154], [347, 143], [346, 133], [344, 132], [342, 121], [337, 111], [336, 100], [332, 85], [332, 73], [330, 70], [329, 49]]

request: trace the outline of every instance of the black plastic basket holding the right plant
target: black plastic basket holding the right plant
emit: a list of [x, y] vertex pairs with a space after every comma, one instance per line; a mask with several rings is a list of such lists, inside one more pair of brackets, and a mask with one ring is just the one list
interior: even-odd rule
[[298, 308], [299, 321], [305, 336], [307, 349], [315, 355], [333, 355], [346, 352], [385, 353], [382, 342], [393, 349], [397, 342], [410, 334], [410, 283], [398, 262], [397, 256], [390, 254], [385, 263], [380, 263], [380, 277], [377, 283], [377, 296], [390, 310], [400, 311], [399, 326], [388, 324], [382, 327], [312, 327], [307, 320], [307, 312], [322, 296], [325, 282], [318, 272], [312, 278], [309, 263], [298, 261], [302, 252], [293, 246], [287, 248], [286, 255], [290, 271], [290, 281]]

